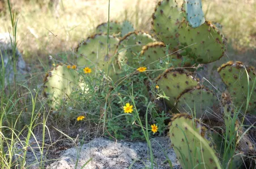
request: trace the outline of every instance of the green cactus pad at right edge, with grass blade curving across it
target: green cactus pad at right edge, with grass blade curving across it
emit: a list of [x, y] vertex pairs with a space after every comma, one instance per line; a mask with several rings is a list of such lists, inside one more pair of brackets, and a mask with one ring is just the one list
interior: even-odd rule
[[253, 83], [256, 79], [256, 73], [253, 67], [245, 67], [240, 61], [229, 61], [218, 68], [221, 79], [227, 85], [228, 91], [233, 98], [233, 104], [238, 107], [242, 106], [242, 112], [245, 113], [246, 103], [248, 99], [248, 77], [249, 75], [249, 92], [252, 92], [249, 100], [248, 112], [256, 114], [256, 85], [253, 87]]

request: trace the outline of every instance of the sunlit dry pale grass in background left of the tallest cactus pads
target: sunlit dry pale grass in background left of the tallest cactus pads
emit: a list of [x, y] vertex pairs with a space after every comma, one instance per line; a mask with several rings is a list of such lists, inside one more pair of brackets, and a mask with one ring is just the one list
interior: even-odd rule
[[[108, 19], [108, 1], [63, 0], [56, 11], [40, 7], [37, 3], [17, 1], [13, 8], [18, 11], [18, 46], [25, 59], [72, 51], [79, 41], [94, 32], [96, 26]], [[130, 2], [130, 3], [129, 3]], [[155, 2], [111, 1], [110, 19], [129, 19], [136, 29], [150, 30], [150, 19]], [[0, 21], [1, 32], [10, 29], [10, 17]]]

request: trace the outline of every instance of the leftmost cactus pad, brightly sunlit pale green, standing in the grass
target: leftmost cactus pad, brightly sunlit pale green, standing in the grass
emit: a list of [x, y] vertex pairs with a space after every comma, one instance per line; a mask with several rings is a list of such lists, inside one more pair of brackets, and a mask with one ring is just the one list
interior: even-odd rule
[[66, 65], [57, 65], [46, 74], [44, 96], [49, 99], [53, 109], [59, 109], [63, 103], [70, 100], [72, 94], [80, 88], [78, 81], [76, 70], [68, 69]]

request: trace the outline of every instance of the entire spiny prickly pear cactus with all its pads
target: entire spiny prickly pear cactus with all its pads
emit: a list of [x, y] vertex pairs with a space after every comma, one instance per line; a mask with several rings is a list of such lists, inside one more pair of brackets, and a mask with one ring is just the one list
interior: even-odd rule
[[[226, 39], [220, 29], [205, 20], [200, 0], [182, 2], [182, 5], [174, 0], [157, 3], [152, 14], [151, 34], [134, 31], [128, 21], [100, 24], [96, 34], [76, 48], [75, 63], [78, 68], [89, 67], [95, 72], [105, 73], [113, 85], [122, 84], [119, 82], [127, 66], [135, 71], [140, 66], [146, 67], [150, 70], [150, 83], [147, 84], [151, 86], [147, 89], [151, 99], [155, 99], [151, 90], [159, 86], [159, 90], [169, 98], [163, 100], [164, 104], [176, 113], [170, 122], [169, 136], [182, 167], [220, 168], [221, 149], [217, 145], [223, 143], [222, 138], [216, 131], [214, 134], [207, 131], [203, 123], [223, 122], [225, 127], [221, 132], [233, 128], [236, 133], [227, 134], [232, 135], [241, 147], [243, 140], [238, 139], [241, 132], [234, 129], [237, 123], [233, 123], [234, 113], [230, 104], [238, 108], [238, 118], [244, 117], [242, 113], [251, 117], [256, 115], [256, 73], [254, 68], [239, 61], [229, 61], [217, 69], [227, 85], [231, 101], [221, 102], [223, 98], [200, 85], [195, 69], [191, 68], [219, 60], [226, 50]], [[108, 30], [109, 35], [106, 34]], [[58, 65], [46, 75], [44, 92], [52, 107], [58, 108], [56, 105], [70, 99], [78, 87], [81, 84], [76, 71]], [[249, 136], [246, 138], [246, 143], [252, 141]], [[247, 152], [244, 149], [238, 151], [251, 153], [255, 148], [247, 149]], [[236, 167], [241, 164], [240, 158], [234, 160]]]

